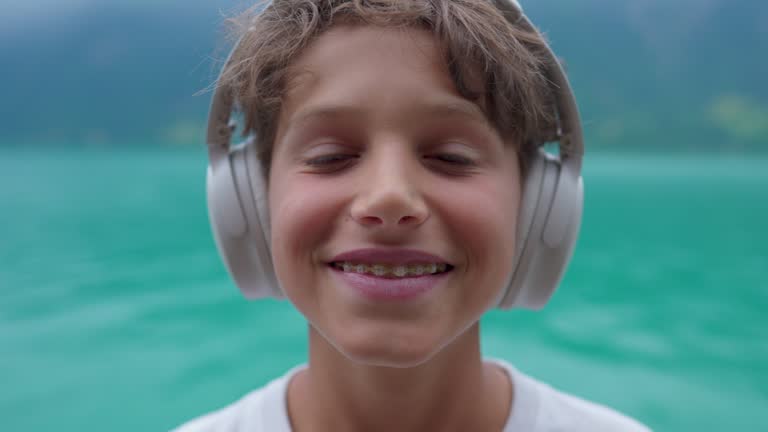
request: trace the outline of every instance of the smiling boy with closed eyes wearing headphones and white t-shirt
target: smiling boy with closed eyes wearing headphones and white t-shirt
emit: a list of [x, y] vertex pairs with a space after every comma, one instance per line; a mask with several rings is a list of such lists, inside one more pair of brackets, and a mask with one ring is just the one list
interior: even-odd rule
[[[309, 363], [179, 430], [647, 431], [480, 354], [486, 310], [549, 298], [581, 214], [578, 115], [519, 6], [246, 17], [211, 111], [212, 225], [246, 296], [307, 318]], [[233, 102], [252, 139], [229, 149]]]

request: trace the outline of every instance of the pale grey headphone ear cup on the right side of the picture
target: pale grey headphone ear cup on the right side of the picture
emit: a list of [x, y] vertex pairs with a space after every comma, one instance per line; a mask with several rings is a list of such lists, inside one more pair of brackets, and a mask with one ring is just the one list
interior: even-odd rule
[[581, 225], [583, 186], [544, 151], [532, 158], [518, 220], [517, 253], [498, 306], [540, 309], [560, 283]]

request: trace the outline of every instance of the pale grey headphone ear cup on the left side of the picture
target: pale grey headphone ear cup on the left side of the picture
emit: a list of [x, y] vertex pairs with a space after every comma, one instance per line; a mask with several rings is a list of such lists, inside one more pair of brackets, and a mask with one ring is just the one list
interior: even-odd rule
[[[283, 297], [269, 248], [267, 190], [253, 142], [208, 169], [208, 212], [219, 255], [246, 298]], [[228, 174], [228, 175], [227, 175]]]

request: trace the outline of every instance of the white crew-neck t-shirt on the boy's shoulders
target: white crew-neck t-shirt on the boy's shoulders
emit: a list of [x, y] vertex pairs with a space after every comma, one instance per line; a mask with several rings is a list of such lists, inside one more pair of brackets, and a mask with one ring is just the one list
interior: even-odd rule
[[[559, 392], [504, 361], [491, 361], [504, 368], [514, 383], [513, 404], [502, 432], [650, 432], [608, 407]], [[291, 432], [286, 391], [291, 378], [305, 367], [293, 368], [232, 405], [174, 432]]]

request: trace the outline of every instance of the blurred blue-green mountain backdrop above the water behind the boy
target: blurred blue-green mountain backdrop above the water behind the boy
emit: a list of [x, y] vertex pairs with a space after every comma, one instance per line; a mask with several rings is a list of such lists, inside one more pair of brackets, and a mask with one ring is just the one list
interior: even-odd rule
[[[202, 145], [225, 0], [3, 0], [0, 146]], [[768, 2], [528, 0], [591, 151], [768, 152]]]

